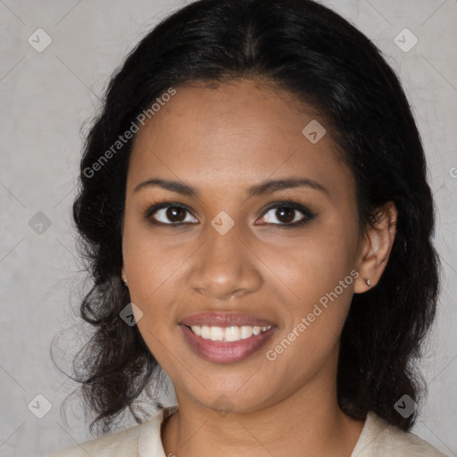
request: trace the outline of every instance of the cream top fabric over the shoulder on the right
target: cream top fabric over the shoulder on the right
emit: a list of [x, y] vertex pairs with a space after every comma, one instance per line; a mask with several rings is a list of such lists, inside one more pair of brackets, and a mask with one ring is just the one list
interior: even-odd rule
[[447, 457], [436, 447], [411, 432], [390, 425], [373, 411], [367, 415], [365, 427], [351, 457]]

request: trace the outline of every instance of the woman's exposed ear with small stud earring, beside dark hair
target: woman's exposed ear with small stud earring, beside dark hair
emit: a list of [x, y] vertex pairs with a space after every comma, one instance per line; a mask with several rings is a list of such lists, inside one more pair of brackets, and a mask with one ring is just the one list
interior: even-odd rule
[[[394, 202], [387, 202], [378, 209], [374, 227], [368, 228], [363, 239], [356, 270], [360, 276], [356, 279], [354, 293], [361, 294], [378, 284], [386, 268], [396, 233], [398, 212]], [[370, 286], [366, 279], [370, 279]]]

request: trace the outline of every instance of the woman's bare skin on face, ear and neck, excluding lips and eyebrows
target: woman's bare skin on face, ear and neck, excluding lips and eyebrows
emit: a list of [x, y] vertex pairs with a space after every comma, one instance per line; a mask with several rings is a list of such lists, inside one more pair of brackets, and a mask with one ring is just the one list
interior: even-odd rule
[[[219, 456], [349, 457], [364, 422], [337, 404], [339, 337], [353, 294], [374, 287], [386, 267], [395, 206], [387, 204], [378, 225], [361, 236], [353, 176], [337, 160], [337, 145], [329, 133], [316, 144], [302, 134], [311, 120], [324, 127], [326, 121], [299, 109], [277, 87], [241, 79], [176, 89], [137, 133], [122, 245], [122, 275], [143, 312], [139, 331], [173, 380], [179, 402], [179, 412], [162, 425], [165, 454], [193, 457], [217, 449]], [[290, 177], [317, 181], [327, 192], [294, 187], [246, 196], [248, 187], [265, 179]], [[151, 178], [186, 182], [200, 196], [162, 187], [134, 192]], [[287, 220], [275, 204], [284, 200], [317, 215], [301, 227], [282, 228]], [[163, 225], [146, 220], [145, 210], [159, 202], [187, 205], [189, 212], [179, 217], [188, 223], [171, 227], [166, 210], [154, 215]], [[225, 235], [211, 225], [221, 211], [234, 221]], [[263, 219], [267, 212], [270, 225]], [[301, 219], [302, 212], [292, 212], [291, 220]], [[351, 270], [359, 277], [286, 351], [268, 360], [266, 351]], [[179, 320], [234, 311], [275, 323], [267, 345], [228, 364], [192, 352]], [[228, 398], [227, 414], [213, 406], [220, 395]]]

